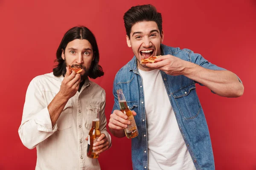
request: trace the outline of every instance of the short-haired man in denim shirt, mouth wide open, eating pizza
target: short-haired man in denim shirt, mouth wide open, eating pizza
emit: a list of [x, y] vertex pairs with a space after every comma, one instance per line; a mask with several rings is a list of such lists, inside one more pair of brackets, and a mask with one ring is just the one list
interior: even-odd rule
[[[207, 122], [195, 83], [215, 94], [239, 97], [241, 80], [189, 49], [163, 45], [162, 17], [152, 5], [134, 6], [124, 15], [126, 40], [134, 57], [116, 74], [115, 103], [108, 126], [124, 137], [130, 121], [119, 111], [122, 89], [139, 135], [132, 139], [134, 170], [214, 170]], [[160, 56], [161, 55], [161, 56]], [[154, 63], [140, 61], [152, 56]]]

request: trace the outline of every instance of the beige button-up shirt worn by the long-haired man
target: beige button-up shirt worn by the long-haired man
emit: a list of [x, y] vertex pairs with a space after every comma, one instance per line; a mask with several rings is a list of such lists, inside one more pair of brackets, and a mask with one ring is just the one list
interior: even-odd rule
[[58, 93], [64, 77], [52, 73], [35, 77], [29, 84], [19, 135], [29, 149], [36, 147], [36, 170], [100, 170], [98, 159], [87, 157], [87, 141], [93, 110], [100, 110], [100, 131], [111, 146], [106, 129], [105, 90], [85, 81], [80, 92], [70, 98], [52, 127], [47, 106]]

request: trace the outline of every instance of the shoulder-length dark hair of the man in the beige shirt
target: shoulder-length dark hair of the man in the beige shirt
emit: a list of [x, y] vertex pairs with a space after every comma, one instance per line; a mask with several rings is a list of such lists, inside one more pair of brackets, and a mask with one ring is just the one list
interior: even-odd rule
[[53, 74], [56, 77], [59, 77], [63, 75], [63, 77], [66, 74], [66, 63], [64, 59], [61, 57], [62, 49], [65, 51], [65, 48], [67, 47], [67, 44], [73, 40], [80, 39], [80, 40], [88, 40], [93, 48], [93, 61], [91, 63], [88, 77], [92, 79], [96, 79], [97, 77], [101, 77], [104, 75], [104, 72], [102, 70], [102, 67], [99, 65], [99, 48], [96, 42], [96, 38], [94, 37], [93, 33], [86, 28], [85, 26], [77, 26], [73, 27], [70, 30], [66, 32], [64, 37], [61, 40], [61, 43], [57, 49], [55, 62], [58, 64], [55, 65], [55, 68], [53, 68]]

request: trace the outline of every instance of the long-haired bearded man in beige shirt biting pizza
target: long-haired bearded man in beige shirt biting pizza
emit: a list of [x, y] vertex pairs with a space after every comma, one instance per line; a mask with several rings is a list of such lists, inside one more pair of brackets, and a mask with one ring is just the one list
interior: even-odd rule
[[[99, 161], [87, 157], [88, 133], [99, 110], [101, 136], [93, 150], [111, 146], [106, 129], [105, 90], [96, 79], [104, 72], [99, 49], [86, 27], [71, 28], [56, 53], [53, 73], [32, 79], [26, 92], [19, 135], [29, 149], [37, 148], [36, 170], [99, 170]], [[69, 67], [82, 72], [70, 72]]]

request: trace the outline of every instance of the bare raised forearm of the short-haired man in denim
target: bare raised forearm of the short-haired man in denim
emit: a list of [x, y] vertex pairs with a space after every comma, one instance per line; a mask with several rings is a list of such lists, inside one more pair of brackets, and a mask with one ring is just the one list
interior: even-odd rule
[[231, 71], [209, 70], [186, 62], [183, 75], [205, 85], [219, 96], [239, 97], [244, 92], [244, 86]]

